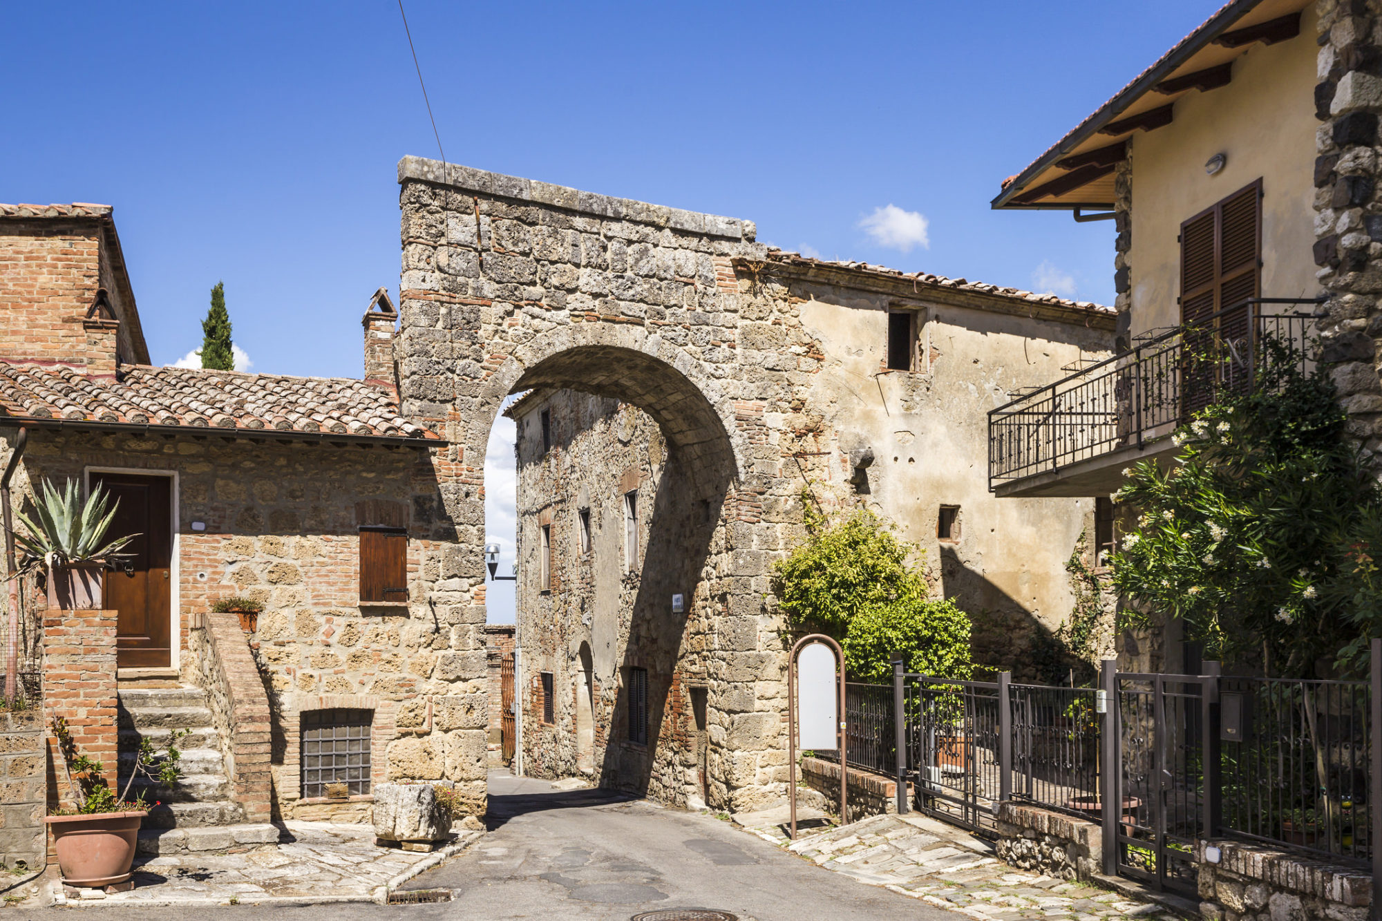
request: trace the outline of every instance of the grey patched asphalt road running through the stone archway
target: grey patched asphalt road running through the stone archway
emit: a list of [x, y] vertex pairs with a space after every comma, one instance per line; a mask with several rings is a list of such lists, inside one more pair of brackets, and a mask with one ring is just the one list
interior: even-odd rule
[[77, 911], [93, 918], [137, 915], [141, 921], [188, 921], [189, 914], [198, 921], [223, 915], [274, 921], [627, 921], [640, 911], [673, 909], [719, 909], [742, 921], [959, 917], [824, 870], [727, 821], [604, 790], [556, 791], [546, 781], [496, 773], [489, 780], [489, 834], [405, 886], [451, 889], [452, 902], [138, 911], [91, 906]]

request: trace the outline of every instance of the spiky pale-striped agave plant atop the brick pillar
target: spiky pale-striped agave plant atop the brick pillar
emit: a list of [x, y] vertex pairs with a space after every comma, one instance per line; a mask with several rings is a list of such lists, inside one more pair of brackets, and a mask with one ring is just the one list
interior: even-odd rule
[[105, 563], [119, 556], [137, 537], [130, 534], [102, 543], [120, 503], [116, 501], [112, 505], [101, 485], [83, 499], [77, 494], [76, 481], [68, 480], [66, 488], [59, 492], [53, 483], [44, 480], [41, 495], [36, 498], [32, 519], [23, 512], [15, 512], [28, 530], [14, 532], [23, 553], [21, 573], [39, 567], [51, 571], [73, 563]]

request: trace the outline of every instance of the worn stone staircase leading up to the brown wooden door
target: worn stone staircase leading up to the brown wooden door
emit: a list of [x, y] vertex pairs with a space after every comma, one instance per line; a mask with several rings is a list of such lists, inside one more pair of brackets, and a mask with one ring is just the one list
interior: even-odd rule
[[221, 744], [200, 687], [120, 686], [120, 788], [134, 766], [141, 738], [163, 751], [174, 732], [182, 752], [182, 780], [171, 791], [140, 777], [130, 797], [140, 791], [152, 806], [140, 830], [138, 853], [170, 855], [189, 850], [225, 850], [240, 845], [272, 844], [278, 828], [246, 823], [231, 791], [221, 758]]

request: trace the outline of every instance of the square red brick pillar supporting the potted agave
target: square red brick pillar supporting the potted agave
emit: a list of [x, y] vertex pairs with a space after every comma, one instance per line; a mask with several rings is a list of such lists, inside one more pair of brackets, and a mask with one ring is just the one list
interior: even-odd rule
[[48, 723], [48, 756], [58, 774], [50, 798], [75, 805], [62, 770], [64, 756], [53, 737], [53, 720], [66, 720], [77, 754], [102, 765], [113, 788], [119, 759], [115, 682], [116, 611], [43, 614], [43, 708]]

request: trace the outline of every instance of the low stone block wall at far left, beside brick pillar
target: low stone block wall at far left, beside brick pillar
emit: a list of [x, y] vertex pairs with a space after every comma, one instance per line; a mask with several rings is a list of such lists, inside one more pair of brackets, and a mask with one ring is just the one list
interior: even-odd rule
[[43, 711], [0, 709], [0, 871], [43, 868], [47, 799]]

